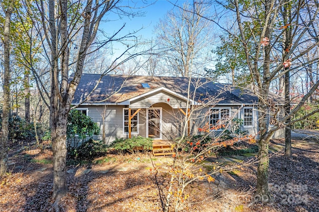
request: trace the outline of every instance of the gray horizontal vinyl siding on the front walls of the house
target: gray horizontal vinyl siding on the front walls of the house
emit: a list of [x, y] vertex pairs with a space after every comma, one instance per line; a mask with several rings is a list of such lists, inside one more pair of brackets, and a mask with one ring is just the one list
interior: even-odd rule
[[[178, 101], [174, 102], [174, 98], [167, 96], [165, 94], [158, 94], [165, 99], [167, 102], [167, 98], [170, 99], [169, 103], [176, 106]], [[132, 109], [138, 109], [141, 107], [138, 106], [147, 106], [150, 104], [151, 99], [147, 99], [146, 104], [142, 104], [143, 101], [139, 101], [135, 104], [132, 104], [130, 107]], [[155, 101], [155, 99], [153, 100]], [[175, 137], [181, 136], [185, 126], [185, 135], [187, 135], [187, 123], [184, 123], [184, 114], [178, 109], [173, 108], [169, 103], [152, 103], [152, 107], [160, 107], [162, 111], [162, 139], [173, 139]], [[175, 104], [176, 103], [176, 104]], [[179, 104], [179, 103], [178, 103]], [[182, 105], [182, 104], [181, 104]], [[150, 108], [152, 108], [150, 107]], [[103, 129], [103, 113], [104, 106], [83, 106], [83, 108], [88, 108], [88, 115], [92, 118], [94, 122], [96, 122], [100, 128], [100, 135], [94, 136], [94, 139], [102, 140], [102, 129]], [[111, 144], [116, 138], [128, 138], [129, 135], [125, 134], [123, 131], [123, 108], [128, 108], [128, 106], [107, 106], [105, 113], [105, 134], [106, 134], [106, 144]], [[182, 108], [183, 111], [187, 111], [185, 107]], [[198, 128], [201, 128], [205, 125], [205, 123], [209, 123], [209, 108], [205, 107], [200, 110], [193, 111], [193, 114], [190, 119], [190, 134], [197, 135], [203, 134], [203, 132], [199, 132]], [[215, 106], [215, 108], [230, 108], [231, 117], [232, 118], [244, 118], [244, 109], [240, 106]], [[240, 108], [239, 112], [238, 109]], [[148, 137], [147, 135], [147, 123], [146, 123], [146, 111], [147, 108], [142, 108], [139, 111], [139, 122], [138, 122], [138, 134], [131, 134], [133, 136], [143, 136]], [[253, 109], [253, 127], [242, 127], [242, 130], [247, 130], [248, 134], [257, 135], [258, 133], [258, 111], [256, 108]], [[218, 136], [221, 130], [210, 131], [211, 136]], [[284, 137], [284, 129], [277, 130], [273, 138], [282, 138]]]

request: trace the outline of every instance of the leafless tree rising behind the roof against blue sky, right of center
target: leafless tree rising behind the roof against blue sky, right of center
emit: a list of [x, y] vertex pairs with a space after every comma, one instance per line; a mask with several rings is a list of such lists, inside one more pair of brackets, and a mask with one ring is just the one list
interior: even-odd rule
[[211, 22], [202, 17], [208, 11], [208, 5], [203, 1], [185, 2], [182, 8], [175, 7], [160, 20], [155, 33], [159, 48], [165, 50], [162, 57], [170, 74], [188, 77], [191, 72], [203, 70], [203, 65], [209, 61], [207, 47], [213, 33]]

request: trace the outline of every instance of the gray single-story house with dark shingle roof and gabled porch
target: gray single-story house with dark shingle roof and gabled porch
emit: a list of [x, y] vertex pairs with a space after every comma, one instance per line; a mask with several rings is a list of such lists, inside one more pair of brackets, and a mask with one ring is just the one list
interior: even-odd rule
[[[258, 135], [257, 102], [252, 92], [205, 78], [83, 74], [73, 105], [100, 125], [97, 139], [105, 129], [110, 144], [137, 135], [162, 140], [197, 135], [207, 124], [218, 132], [213, 126], [228, 117], [243, 119], [242, 129]], [[283, 136], [283, 129], [274, 134]]]

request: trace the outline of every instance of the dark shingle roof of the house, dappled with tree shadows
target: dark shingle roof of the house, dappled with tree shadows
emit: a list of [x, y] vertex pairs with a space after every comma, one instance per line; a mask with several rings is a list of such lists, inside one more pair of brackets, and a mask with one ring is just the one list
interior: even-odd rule
[[[73, 78], [73, 75], [70, 79]], [[73, 104], [84, 101], [88, 94], [96, 86], [100, 75], [83, 74], [80, 84], [75, 92]], [[143, 88], [141, 83], [148, 83], [150, 89]], [[107, 103], [121, 103], [126, 100], [138, 97], [160, 87], [171, 90], [174, 93], [187, 97], [189, 79], [183, 77], [148, 77], [148, 76], [123, 76], [106, 75], [95, 91], [89, 96], [86, 102], [97, 103], [107, 99]], [[196, 86], [197, 85], [197, 86]], [[200, 86], [198, 86], [200, 85]], [[121, 86], [123, 86], [121, 88]], [[257, 97], [251, 93], [240, 89], [228, 89], [220, 93], [225, 88], [230, 88], [228, 84], [218, 84], [209, 82], [205, 78], [193, 78], [190, 83], [190, 93], [194, 94], [195, 101], [203, 101], [207, 97], [220, 99], [218, 104], [253, 104], [257, 102]], [[115, 91], [118, 91], [114, 94]], [[105, 102], [103, 102], [105, 103]]]

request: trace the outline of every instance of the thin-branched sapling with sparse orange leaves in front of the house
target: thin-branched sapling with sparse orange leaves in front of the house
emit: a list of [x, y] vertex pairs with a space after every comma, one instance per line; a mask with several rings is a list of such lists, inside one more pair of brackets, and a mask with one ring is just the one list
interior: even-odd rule
[[[198, 98], [196, 90], [205, 86], [206, 83], [210, 83], [210, 81], [198, 78], [188, 78], [188, 80], [186, 107], [165, 110], [169, 115], [163, 121], [174, 123], [174, 127], [170, 126], [170, 130], [164, 129], [164, 127], [161, 129], [156, 124], [156, 119], [160, 119], [160, 114], [156, 109], [154, 109], [154, 112], [152, 111], [152, 115], [154, 115], [152, 119], [155, 120], [150, 120], [150, 122], [153, 122], [150, 123], [152, 129], [158, 132], [160, 130], [164, 131], [166, 139], [170, 140], [174, 147], [173, 163], [155, 167], [156, 172], [164, 172], [164, 176], [169, 180], [168, 185], [165, 185], [167, 192], [165, 192], [166, 195], [162, 201], [164, 212], [181, 210], [183, 203], [192, 196], [191, 193], [186, 192], [187, 186], [201, 181], [214, 182], [217, 173], [240, 169], [258, 161], [254, 158], [230, 166], [216, 163], [210, 169], [203, 166], [202, 162], [212, 157], [212, 155], [216, 155], [221, 148], [232, 146], [240, 141], [255, 142], [255, 138], [252, 135], [245, 135], [243, 131], [239, 130], [243, 123], [237, 119], [237, 112], [241, 109], [240, 106], [231, 109], [225, 108], [223, 110], [224, 115], [221, 115], [218, 121], [210, 119], [212, 115], [216, 115], [216, 111], [212, 108], [221, 101], [220, 96], [231, 91], [230, 87], [221, 87], [213, 97], [206, 94]], [[193, 89], [191, 89], [192, 86]], [[191, 100], [199, 104], [191, 105]], [[200, 132], [200, 135], [196, 135], [197, 132]], [[230, 135], [227, 138], [225, 137], [226, 132]], [[211, 195], [210, 198], [214, 199], [216, 197]]]

